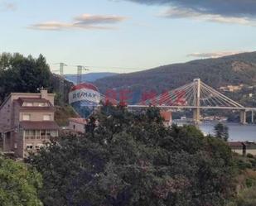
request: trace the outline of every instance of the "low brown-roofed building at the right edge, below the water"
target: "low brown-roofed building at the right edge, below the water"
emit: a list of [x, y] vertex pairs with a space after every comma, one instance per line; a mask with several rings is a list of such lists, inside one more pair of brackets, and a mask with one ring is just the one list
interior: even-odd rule
[[256, 143], [255, 142], [241, 142], [241, 141], [230, 141], [229, 147], [232, 151], [235, 153], [238, 153], [239, 155], [247, 155], [252, 154], [253, 156], [256, 156]]

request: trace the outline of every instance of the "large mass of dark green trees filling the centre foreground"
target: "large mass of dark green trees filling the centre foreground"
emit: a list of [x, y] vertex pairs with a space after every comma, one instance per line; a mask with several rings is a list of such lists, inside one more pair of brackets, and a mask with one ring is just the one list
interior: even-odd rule
[[163, 127], [157, 109], [102, 108], [85, 137], [62, 137], [28, 161], [46, 206], [215, 206], [234, 194], [225, 141], [196, 127]]

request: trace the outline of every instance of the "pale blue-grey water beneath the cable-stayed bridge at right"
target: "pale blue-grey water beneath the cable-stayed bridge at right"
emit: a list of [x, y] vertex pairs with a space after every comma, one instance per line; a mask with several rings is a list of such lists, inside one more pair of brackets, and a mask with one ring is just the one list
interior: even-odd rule
[[[256, 125], [226, 123], [229, 127], [229, 141], [256, 141]], [[200, 129], [206, 134], [214, 133], [214, 123], [201, 123]]]

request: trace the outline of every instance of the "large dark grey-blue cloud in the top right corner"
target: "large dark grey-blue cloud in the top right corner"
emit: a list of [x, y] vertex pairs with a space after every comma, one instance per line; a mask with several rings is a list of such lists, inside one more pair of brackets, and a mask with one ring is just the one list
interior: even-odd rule
[[163, 14], [172, 18], [196, 18], [211, 22], [255, 26], [255, 0], [126, 0], [170, 7]]

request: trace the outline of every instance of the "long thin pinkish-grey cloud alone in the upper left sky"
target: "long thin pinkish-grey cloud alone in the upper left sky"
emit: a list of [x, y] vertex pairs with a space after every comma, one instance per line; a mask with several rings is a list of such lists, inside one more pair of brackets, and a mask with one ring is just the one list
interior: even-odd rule
[[114, 29], [113, 25], [118, 22], [123, 22], [126, 17], [107, 16], [107, 15], [90, 15], [83, 14], [75, 17], [72, 22], [41, 22], [28, 26], [36, 30], [60, 31], [67, 29], [99, 29], [107, 30]]

